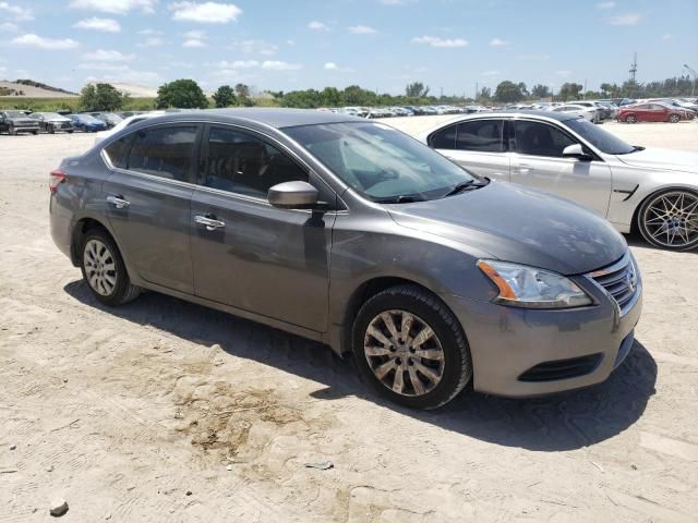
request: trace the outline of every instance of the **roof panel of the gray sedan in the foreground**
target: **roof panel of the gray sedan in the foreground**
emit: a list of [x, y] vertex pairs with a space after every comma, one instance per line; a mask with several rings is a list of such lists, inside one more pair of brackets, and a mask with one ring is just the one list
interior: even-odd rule
[[234, 122], [240, 119], [260, 122], [276, 129], [291, 127], [296, 125], [316, 125], [321, 123], [357, 122], [364, 119], [337, 114], [332, 111], [316, 111], [314, 109], [277, 109], [277, 108], [240, 108], [240, 109], [203, 109], [182, 111], [158, 117], [158, 121], [177, 122], [191, 120], [192, 117], [201, 117], [202, 120], [216, 120]]

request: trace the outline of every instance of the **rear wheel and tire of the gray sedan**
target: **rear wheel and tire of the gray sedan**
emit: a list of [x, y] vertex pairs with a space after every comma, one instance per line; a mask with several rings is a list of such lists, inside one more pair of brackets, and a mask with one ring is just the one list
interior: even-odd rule
[[103, 230], [85, 234], [80, 268], [93, 295], [105, 305], [122, 305], [141, 293], [141, 288], [131, 284], [116, 243]]

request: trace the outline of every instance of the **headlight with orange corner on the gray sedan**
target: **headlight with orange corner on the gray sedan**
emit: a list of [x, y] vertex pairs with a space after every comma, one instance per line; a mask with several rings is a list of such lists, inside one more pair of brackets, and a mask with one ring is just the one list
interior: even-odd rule
[[556, 272], [508, 262], [481, 259], [478, 267], [500, 289], [496, 302], [527, 308], [571, 308], [593, 301], [577, 284]]

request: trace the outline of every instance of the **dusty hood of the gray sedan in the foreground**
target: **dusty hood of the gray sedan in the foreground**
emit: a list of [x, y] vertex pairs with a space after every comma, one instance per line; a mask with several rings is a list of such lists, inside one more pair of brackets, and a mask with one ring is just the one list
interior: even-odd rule
[[385, 207], [402, 227], [456, 241], [497, 259], [563, 275], [604, 267], [627, 251], [623, 236], [600, 216], [509, 183], [491, 182], [456, 196]]

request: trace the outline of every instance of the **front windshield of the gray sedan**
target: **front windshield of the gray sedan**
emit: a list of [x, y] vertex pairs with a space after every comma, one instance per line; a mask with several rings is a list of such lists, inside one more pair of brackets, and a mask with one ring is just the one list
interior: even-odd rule
[[476, 182], [438, 153], [382, 123], [303, 125], [284, 132], [373, 202], [435, 199]]

